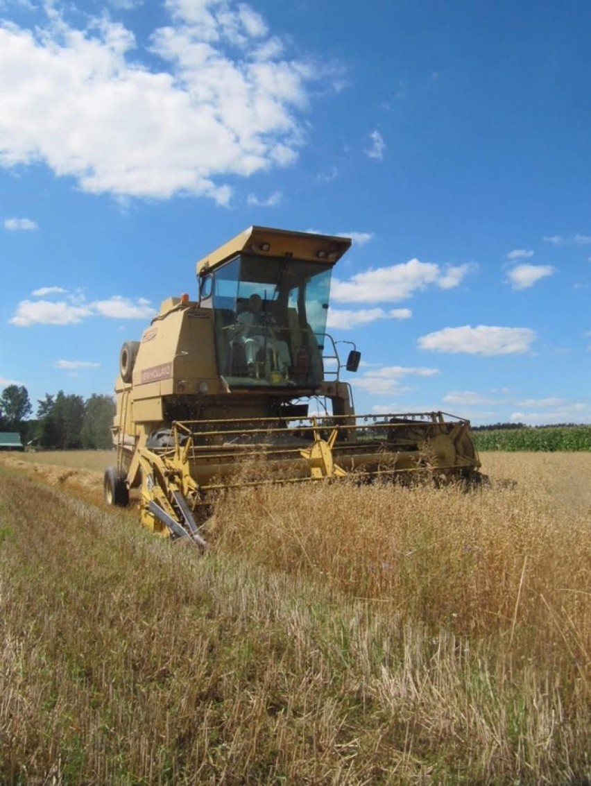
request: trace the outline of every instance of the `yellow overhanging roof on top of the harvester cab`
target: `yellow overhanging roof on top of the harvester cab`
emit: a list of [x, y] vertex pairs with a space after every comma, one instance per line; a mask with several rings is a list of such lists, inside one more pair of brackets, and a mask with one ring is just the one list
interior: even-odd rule
[[251, 226], [231, 241], [216, 248], [197, 263], [197, 275], [210, 273], [238, 254], [293, 257], [308, 262], [334, 265], [351, 246], [350, 237], [317, 235], [310, 232], [275, 230], [267, 226]]

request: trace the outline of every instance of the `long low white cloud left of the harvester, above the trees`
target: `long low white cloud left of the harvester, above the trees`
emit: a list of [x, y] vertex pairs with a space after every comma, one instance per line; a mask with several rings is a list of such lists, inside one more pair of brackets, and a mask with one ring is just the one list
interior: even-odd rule
[[112, 319], [146, 319], [154, 315], [155, 310], [149, 301], [138, 298], [112, 296], [108, 300], [95, 300], [94, 303], [83, 303], [80, 299], [68, 302], [60, 300], [21, 300], [11, 325], [28, 328], [31, 325], [76, 325], [91, 317], [108, 317]]

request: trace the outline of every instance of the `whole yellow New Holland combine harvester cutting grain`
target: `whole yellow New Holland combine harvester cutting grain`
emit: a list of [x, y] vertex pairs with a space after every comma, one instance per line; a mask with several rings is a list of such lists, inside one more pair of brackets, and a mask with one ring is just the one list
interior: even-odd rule
[[119, 356], [116, 466], [105, 499], [205, 548], [211, 492], [265, 483], [479, 478], [469, 422], [441, 412], [357, 415], [326, 332], [344, 237], [251, 226], [197, 263], [198, 296], [162, 303]]

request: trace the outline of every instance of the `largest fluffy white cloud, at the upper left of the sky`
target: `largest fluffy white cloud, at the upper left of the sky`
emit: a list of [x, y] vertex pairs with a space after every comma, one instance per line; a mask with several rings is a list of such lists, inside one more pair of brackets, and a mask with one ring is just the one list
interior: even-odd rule
[[228, 204], [226, 178], [293, 163], [321, 66], [288, 58], [246, 3], [164, 8], [150, 50], [106, 15], [80, 28], [50, 4], [44, 26], [0, 24], [0, 166], [42, 162], [89, 193]]

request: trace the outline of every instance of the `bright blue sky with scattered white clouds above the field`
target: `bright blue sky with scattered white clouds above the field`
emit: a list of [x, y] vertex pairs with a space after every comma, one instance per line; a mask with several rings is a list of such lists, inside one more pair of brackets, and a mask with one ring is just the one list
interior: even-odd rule
[[110, 393], [252, 224], [353, 238], [358, 412], [591, 422], [591, 4], [0, 0], [0, 389]]

